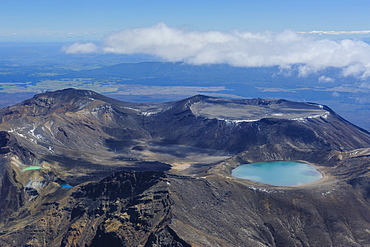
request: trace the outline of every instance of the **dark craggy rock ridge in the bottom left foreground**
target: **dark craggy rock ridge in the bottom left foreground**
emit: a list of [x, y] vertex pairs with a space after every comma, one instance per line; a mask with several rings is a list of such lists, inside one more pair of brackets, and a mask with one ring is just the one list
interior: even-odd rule
[[[54, 188], [3, 227], [1, 246], [188, 246], [168, 226], [163, 172], [120, 172], [70, 190]], [[50, 200], [53, 198], [53, 200]]]

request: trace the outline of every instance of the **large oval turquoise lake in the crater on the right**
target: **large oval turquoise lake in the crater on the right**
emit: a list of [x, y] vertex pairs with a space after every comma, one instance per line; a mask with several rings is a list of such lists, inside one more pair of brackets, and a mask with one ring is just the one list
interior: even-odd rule
[[269, 185], [295, 186], [315, 182], [321, 173], [309, 164], [297, 161], [273, 161], [240, 165], [231, 175]]

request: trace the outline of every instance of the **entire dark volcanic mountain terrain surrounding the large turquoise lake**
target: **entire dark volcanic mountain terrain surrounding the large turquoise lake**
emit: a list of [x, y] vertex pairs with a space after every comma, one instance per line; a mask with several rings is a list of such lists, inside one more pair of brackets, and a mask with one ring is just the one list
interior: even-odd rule
[[[370, 133], [327, 106], [65, 89], [0, 109], [1, 246], [370, 245]], [[271, 186], [240, 164], [299, 160]]]

